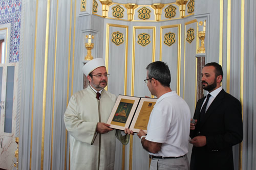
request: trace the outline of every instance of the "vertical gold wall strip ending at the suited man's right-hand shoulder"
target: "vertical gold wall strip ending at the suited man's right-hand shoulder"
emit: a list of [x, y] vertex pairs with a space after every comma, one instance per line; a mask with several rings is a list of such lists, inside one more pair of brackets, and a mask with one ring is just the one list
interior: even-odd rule
[[227, 1], [227, 93], [230, 92], [231, 0]]

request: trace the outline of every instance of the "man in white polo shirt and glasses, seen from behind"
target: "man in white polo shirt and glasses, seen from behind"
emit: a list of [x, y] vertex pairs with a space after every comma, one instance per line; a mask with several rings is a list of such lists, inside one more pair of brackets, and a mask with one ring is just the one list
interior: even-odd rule
[[144, 81], [151, 94], [158, 98], [147, 125], [147, 135], [143, 130], [138, 133], [143, 148], [152, 158], [150, 169], [189, 169], [186, 156], [189, 107], [176, 91], [170, 89], [170, 70], [167, 64], [156, 61], [148, 64], [146, 69]]

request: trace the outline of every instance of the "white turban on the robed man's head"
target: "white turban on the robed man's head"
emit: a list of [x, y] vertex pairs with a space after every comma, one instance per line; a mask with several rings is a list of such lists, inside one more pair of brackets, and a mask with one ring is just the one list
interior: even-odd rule
[[96, 58], [84, 64], [82, 72], [84, 75], [88, 76], [93, 70], [99, 67], [105, 67], [105, 62], [102, 58]]

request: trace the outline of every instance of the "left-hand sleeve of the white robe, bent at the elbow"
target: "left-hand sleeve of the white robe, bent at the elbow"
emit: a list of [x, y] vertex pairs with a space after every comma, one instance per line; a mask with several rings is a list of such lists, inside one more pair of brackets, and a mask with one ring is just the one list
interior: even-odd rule
[[77, 101], [72, 96], [64, 114], [66, 129], [76, 140], [93, 144], [97, 136], [96, 128], [98, 123], [81, 120], [78, 116], [77, 108]]

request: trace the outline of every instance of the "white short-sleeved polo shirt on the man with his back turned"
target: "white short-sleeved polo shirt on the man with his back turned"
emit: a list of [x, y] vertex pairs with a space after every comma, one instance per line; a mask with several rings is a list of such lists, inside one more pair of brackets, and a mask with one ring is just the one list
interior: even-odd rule
[[179, 157], [188, 153], [190, 110], [187, 103], [171, 91], [157, 100], [147, 125], [146, 140], [162, 143], [154, 156]]

